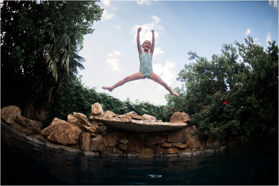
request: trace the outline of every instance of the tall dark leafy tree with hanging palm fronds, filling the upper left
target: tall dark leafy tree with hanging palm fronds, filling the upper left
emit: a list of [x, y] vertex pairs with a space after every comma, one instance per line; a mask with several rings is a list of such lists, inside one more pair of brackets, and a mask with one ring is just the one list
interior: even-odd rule
[[78, 82], [85, 61], [78, 56], [83, 36], [94, 31], [103, 13], [95, 3], [1, 1], [1, 88], [22, 80], [26, 107], [32, 107], [53, 102], [65, 84]]

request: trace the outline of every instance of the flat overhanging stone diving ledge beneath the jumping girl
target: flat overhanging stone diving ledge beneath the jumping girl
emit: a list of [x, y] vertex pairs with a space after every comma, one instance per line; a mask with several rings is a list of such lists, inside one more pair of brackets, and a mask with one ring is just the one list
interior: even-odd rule
[[143, 121], [128, 118], [111, 118], [105, 116], [95, 116], [95, 120], [103, 122], [105, 126], [134, 132], [162, 132], [181, 129], [187, 126], [187, 123]]

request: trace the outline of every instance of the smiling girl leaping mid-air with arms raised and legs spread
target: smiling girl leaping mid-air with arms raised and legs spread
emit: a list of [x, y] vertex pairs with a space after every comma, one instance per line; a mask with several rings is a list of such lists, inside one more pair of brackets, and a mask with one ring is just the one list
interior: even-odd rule
[[[178, 93], [175, 93], [171, 90], [171, 88], [157, 75], [153, 72], [152, 68], [152, 55], [154, 52], [154, 46], [155, 46], [155, 36], [154, 36], [154, 30], [151, 30], [152, 32], [152, 44], [150, 41], [146, 40], [140, 45], [140, 31], [142, 31], [142, 28], [137, 29], [137, 50], [139, 51], [139, 57], [140, 57], [140, 71], [132, 74], [128, 77], [125, 77], [123, 80], [117, 82], [115, 85], [107, 87], [103, 86], [102, 89], [106, 89], [108, 91], [112, 91], [118, 86], [124, 85], [126, 82], [135, 81], [139, 79], [150, 79], [155, 81], [156, 83], [159, 83], [162, 85], [167, 91], [171, 93], [171, 95], [179, 96]], [[142, 50], [143, 48], [143, 50]]]

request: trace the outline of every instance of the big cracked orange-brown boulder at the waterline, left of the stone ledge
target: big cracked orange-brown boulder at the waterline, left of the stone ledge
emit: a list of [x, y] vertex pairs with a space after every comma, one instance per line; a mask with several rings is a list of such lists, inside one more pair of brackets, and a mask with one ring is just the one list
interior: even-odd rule
[[47, 136], [50, 141], [61, 143], [62, 145], [75, 144], [81, 130], [74, 124], [68, 123], [59, 118], [54, 118], [51, 124], [42, 130], [42, 135]]

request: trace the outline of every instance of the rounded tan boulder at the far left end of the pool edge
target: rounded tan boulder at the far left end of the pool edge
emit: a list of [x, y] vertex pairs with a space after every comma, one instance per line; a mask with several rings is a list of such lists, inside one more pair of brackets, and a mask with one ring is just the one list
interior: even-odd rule
[[15, 123], [15, 118], [21, 116], [21, 110], [14, 105], [6, 106], [1, 109], [0, 117], [9, 124]]

